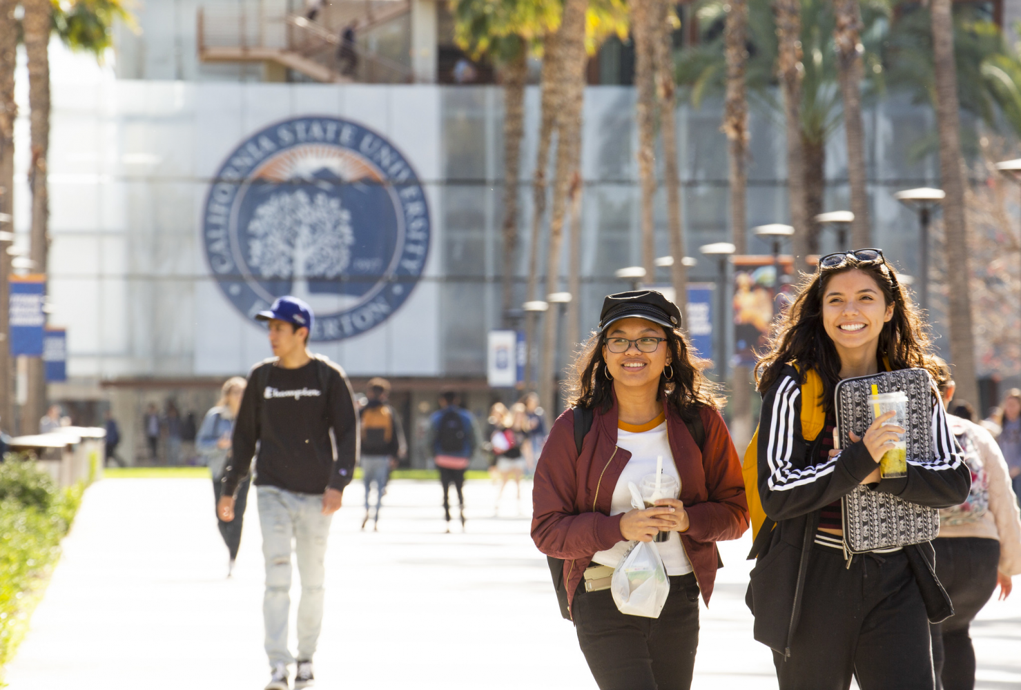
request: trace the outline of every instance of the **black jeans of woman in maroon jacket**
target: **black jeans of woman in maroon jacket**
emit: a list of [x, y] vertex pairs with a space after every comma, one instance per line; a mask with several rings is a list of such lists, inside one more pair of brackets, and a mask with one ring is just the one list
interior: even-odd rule
[[692, 574], [670, 579], [660, 618], [617, 609], [609, 589], [586, 592], [571, 606], [578, 643], [599, 690], [688, 690], [698, 648], [698, 584]]

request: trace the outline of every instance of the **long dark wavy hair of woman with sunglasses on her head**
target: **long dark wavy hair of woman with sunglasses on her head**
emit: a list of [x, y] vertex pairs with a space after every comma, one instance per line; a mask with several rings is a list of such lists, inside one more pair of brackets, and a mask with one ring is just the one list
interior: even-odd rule
[[756, 383], [765, 393], [780, 377], [784, 364], [796, 364], [801, 372], [816, 369], [823, 380], [823, 408], [833, 411], [833, 391], [840, 381], [840, 356], [823, 327], [822, 306], [826, 286], [834, 276], [848, 270], [869, 275], [883, 293], [886, 305], [893, 305], [893, 317], [883, 325], [876, 356], [886, 358], [893, 369], [924, 368], [939, 380], [939, 366], [931, 354], [929, 333], [918, 307], [901, 287], [893, 267], [882, 261], [861, 261], [848, 255], [843, 263], [805, 276], [793, 303], [776, 323], [769, 351], [756, 364]]

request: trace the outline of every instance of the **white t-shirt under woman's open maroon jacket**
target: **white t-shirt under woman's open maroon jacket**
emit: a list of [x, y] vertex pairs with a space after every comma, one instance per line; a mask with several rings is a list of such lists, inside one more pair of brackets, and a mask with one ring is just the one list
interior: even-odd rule
[[[614, 487], [614, 497], [610, 503], [610, 514], [618, 515], [627, 512], [632, 508], [631, 491], [628, 489], [628, 482], [634, 482], [636, 486], [641, 484], [641, 479], [645, 475], [655, 474], [655, 458], [663, 455], [663, 474], [671, 475], [680, 482], [680, 475], [677, 474], [677, 466], [674, 464], [674, 456], [670, 451], [670, 443], [667, 440], [667, 423], [649, 431], [629, 432], [623, 429], [617, 431], [617, 446], [631, 453], [631, 459], [624, 465], [617, 486]], [[601, 565], [617, 568], [621, 558], [632, 542], [619, 541], [613, 548], [605, 551], [598, 551], [592, 556], [592, 561]], [[681, 537], [677, 532], [671, 532], [670, 538], [657, 545], [660, 555], [663, 556], [663, 564], [667, 568], [667, 575], [687, 575], [692, 572], [691, 563], [684, 553], [681, 545]]]

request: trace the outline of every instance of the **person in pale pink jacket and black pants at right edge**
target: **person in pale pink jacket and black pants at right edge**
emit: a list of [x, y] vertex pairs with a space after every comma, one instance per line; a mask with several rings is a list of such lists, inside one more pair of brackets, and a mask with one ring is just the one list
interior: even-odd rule
[[[943, 404], [957, 384], [946, 362], [939, 361]], [[1011, 488], [1007, 462], [992, 435], [959, 416], [947, 415], [951, 431], [971, 470], [968, 500], [939, 511], [936, 577], [954, 603], [954, 615], [931, 626], [936, 690], [975, 687], [975, 648], [969, 628], [992, 596], [1011, 594], [1011, 577], [1021, 574], [1021, 511]]]

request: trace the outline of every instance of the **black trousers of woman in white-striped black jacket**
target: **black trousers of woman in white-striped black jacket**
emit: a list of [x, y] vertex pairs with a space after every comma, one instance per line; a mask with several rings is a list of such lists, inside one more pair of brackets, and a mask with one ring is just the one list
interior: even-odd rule
[[780, 690], [933, 690], [929, 621], [904, 551], [854, 556], [815, 545]]

